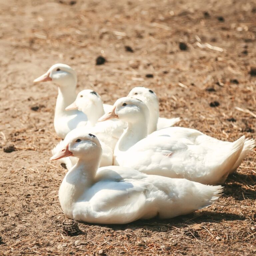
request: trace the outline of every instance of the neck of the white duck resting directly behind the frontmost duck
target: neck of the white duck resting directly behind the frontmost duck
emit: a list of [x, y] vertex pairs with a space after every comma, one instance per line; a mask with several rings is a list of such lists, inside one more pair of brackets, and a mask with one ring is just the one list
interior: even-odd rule
[[147, 134], [147, 119], [145, 118], [145, 116], [143, 116], [139, 120], [129, 122], [128, 127], [123, 132], [116, 144], [115, 153], [117, 151], [127, 151], [138, 141], [146, 138]]

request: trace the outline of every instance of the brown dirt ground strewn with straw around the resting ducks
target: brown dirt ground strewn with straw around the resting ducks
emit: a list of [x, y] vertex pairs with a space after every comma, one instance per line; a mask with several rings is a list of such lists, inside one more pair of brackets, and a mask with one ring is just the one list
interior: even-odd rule
[[[182, 117], [179, 126], [222, 140], [256, 138], [254, 0], [0, 4], [0, 255], [255, 254], [255, 150], [207, 209], [127, 225], [77, 223], [81, 233], [66, 234], [76, 227], [58, 202], [66, 170], [49, 161], [59, 141], [57, 87], [33, 85], [66, 63], [78, 74], [77, 92], [93, 88], [113, 104], [146, 86], [159, 96], [161, 116]], [[95, 65], [100, 55], [107, 62]], [[16, 150], [4, 152], [11, 144]]]

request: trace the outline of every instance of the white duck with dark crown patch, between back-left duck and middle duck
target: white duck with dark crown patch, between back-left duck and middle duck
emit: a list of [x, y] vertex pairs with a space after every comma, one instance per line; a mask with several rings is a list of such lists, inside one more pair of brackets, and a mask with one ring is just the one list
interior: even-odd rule
[[114, 150], [118, 139], [124, 129], [127, 128], [127, 124], [118, 119], [97, 123], [98, 119], [105, 113], [100, 95], [93, 90], [79, 92], [76, 100], [66, 108], [66, 110], [74, 109], [78, 109], [87, 115], [86, 129], [90, 129], [89, 131], [95, 134], [100, 141]]

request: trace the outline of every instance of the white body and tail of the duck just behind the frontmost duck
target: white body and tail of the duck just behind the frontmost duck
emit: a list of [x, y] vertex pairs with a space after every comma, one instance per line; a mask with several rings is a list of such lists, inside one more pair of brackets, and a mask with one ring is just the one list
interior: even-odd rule
[[[166, 129], [171, 128], [174, 128], [172, 137], [152, 134], [125, 153], [115, 151], [114, 164], [147, 174], [186, 178], [203, 184], [223, 183], [242, 152], [244, 136], [231, 143], [196, 130], [193, 132], [193, 129]], [[175, 133], [175, 128], [182, 130]]]

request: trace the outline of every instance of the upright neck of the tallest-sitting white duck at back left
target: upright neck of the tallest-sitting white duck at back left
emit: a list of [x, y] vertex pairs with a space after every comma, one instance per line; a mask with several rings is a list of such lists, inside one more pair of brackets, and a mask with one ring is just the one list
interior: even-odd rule
[[72, 111], [66, 111], [65, 108], [76, 99], [75, 86], [58, 86], [58, 97], [55, 106], [55, 116], [68, 115]]

